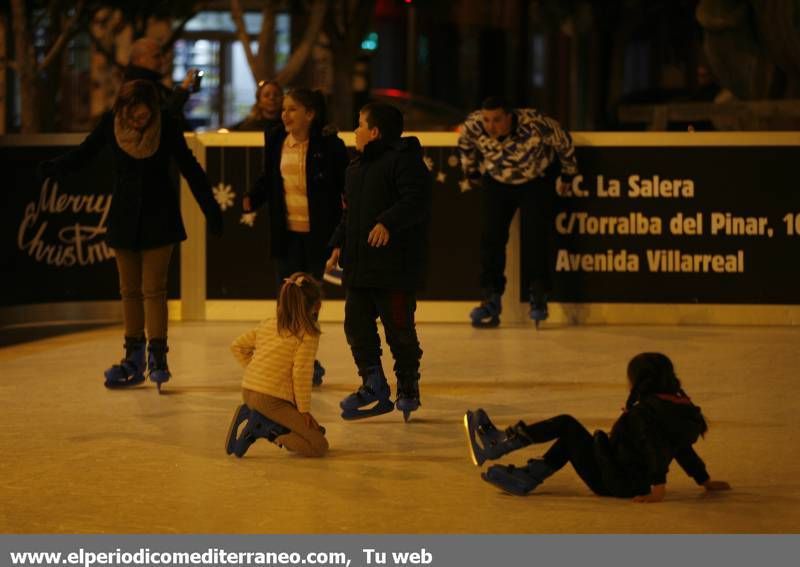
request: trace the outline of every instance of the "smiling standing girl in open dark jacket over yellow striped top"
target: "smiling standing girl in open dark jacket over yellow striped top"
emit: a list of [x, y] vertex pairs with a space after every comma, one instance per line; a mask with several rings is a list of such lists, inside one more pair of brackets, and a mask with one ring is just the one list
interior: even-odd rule
[[[245, 212], [267, 205], [278, 289], [295, 272], [322, 278], [328, 241], [342, 213], [349, 161], [344, 142], [323, 129], [325, 103], [319, 91], [289, 92], [281, 118], [281, 126], [265, 132], [264, 172], [242, 203]], [[316, 385], [324, 372], [315, 362]]]

